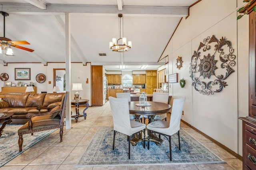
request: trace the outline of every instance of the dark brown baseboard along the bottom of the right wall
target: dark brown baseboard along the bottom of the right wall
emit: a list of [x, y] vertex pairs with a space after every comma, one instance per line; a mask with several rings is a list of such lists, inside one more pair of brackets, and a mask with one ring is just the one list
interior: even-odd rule
[[226, 147], [225, 145], [222, 145], [221, 143], [219, 143], [218, 141], [216, 141], [215, 139], [212, 139], [211, 137], [209, 137], [208, 135], [206, 135], [205, 133], [203, 133], [202, 131], [196, 129], [194, 126], [190, 125], [189, 123], [187, 123], [186, 121], [182, 120], [181, 121], [183, 123], [185, 123], [186, 125], [188, 125], [189, 127], [191, 127], [192, 129], [194, 129], [195, 131], [197, 131], [198, 133], [200, 133], [201, 135], [203, 135], [204, 137], [206, 137], [207, 139], [209, 139], [210, 141], [212, 141], [213, 143], [215, 143], [216, 145], [218, 145], [219, 147], [221, 147], [222, 149], [226, 150], [227, 152], [229, 152], [230, 154], [232, 154], [233, 156], [235, 156], [236, 158], [243, 160], [243, 157], [239, 154], [237, 154], [236, 152], [234, 152], [233, 150], [229, 149], [228, 147]]

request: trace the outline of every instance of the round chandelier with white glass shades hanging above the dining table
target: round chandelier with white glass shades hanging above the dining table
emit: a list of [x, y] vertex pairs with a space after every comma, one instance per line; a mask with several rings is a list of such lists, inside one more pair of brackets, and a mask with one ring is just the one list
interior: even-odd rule
[[121, 18], [123, 14], [118, 14], [119, 17], [119, 39], [112, 38], [112, 42], [109, 42], [109, 48], [116, 52], [126, 52], [132, 48], [132, 41], [126, 42], [126, 37], [121, 38]]

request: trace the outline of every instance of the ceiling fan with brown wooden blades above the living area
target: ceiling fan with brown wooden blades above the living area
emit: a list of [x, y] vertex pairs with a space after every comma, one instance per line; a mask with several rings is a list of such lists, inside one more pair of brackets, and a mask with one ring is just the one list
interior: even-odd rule
[[28, 43], [27, 41], [12, 41], [11, 39], [8, 39], [5, 37], [5, 17], [9, 16], [9, 14], [7, 12], [3, 12], [3, 11], [0, 11], [0, 14], [2, 14], [2, 16], [4, 16], [4, 37], [0, 37], [0, 47], [2, 47], [3, 49], [7, 49], [8, 47], [15, 47], [18, 49], [33, 52], [34, 50], [32, 50], [32, 49], [28, 49], [26, 47], [19, 46], [19, 45], [29, 45], [30, 43]]

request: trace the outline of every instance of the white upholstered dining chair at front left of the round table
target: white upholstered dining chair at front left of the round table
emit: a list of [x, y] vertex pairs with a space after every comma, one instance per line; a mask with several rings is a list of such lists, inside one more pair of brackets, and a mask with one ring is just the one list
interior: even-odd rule
[[143, 147], [145, 148], [145, 128], [146, 125], [144, 123], [140, 123], [138, 121], [133, 121], [129, 119], [129, 104], [127, 99], [118, 99], [109, 97], [110, 108], [112, 111], [112, 117], [114, 122], [114, 139], [113, 139], [113, 150], [115, 146], [115, 136], [116, 132], [124, 133], [128, 137], [128, 145], [129, 145], [129, 159], [130, 159], [130, 142], [131, 136], [135, 133], [139, 133], [143, 131]]

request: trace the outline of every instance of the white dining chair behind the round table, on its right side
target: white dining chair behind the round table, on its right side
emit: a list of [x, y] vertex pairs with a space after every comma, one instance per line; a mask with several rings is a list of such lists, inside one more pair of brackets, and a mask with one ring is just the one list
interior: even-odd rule
[[[166, 93], [166, 92], [153, 92], [153, 99], [152, 99], [153, 102], [161, 102], [161, 103], [168, 104], [168, 100], [169, 100], [169, 93]], [[154, 120], [163, 120], [163, 119], [165, 119], [165, 121], [166, 121], [166, 116], [167, 116], [166, 113], [160, 114], [160, 115], [156, 115], [154, 117]], [[148, 116], [144, 115], [144, 122], [145, 122], [146, 118], [148, 118]]]

